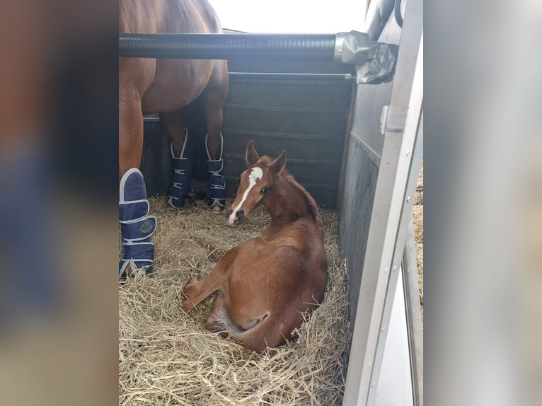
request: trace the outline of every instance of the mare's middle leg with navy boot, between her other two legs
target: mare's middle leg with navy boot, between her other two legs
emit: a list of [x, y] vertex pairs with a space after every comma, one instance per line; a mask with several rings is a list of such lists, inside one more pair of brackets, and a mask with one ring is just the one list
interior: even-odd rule
[[171, 161], [173, 178], [168, 193], [168, 204], [175, 209], [185, 206], [185, 199], [190, 191], [194, 156], [194, 139], [183, 127], [180, 110], [160, 115], [160, 121], [171, 138]]

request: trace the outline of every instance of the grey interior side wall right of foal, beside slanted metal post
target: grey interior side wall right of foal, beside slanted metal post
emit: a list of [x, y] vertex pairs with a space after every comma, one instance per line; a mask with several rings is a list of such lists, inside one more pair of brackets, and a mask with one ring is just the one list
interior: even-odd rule
[[[376, 4], [371, 4], [374, 7]], [[370, 15], [370, 10], [369, 10]], [[369, 25], [369, 23], [367, 23]], [[399, 45], [401, 30], [395, 18], [388, 19], [381, 36], [374, 40]], [[357, 85], [338, 197], [339, 242], [350, 272], [350, 331], [354, 330], [359, 284], [367, 248], [367, 236], [384, 146], [380, 118], [390, 103], [393, 81], [379, 85]]]

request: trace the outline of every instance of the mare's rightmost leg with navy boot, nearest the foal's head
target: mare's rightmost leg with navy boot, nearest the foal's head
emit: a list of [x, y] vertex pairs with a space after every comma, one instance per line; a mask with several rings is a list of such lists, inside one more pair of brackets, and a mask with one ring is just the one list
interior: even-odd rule
[[202, 93], [205, 124], [207, 125], [207, 137], [205, 137], [207, 169], [210, 174], [208, 204], [213, 211], [223, 210], [226, 202], [226, 182], [221, 175], [224, 166], [222, 160], [224, 139], [221, 129], [228, 86], [227, 61], [215, 61], [209, 83]]

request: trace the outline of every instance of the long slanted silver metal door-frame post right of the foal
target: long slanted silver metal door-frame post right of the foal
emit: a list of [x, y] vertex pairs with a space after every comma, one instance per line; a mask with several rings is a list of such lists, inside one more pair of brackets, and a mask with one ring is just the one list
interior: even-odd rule
[[[423, 100], [422, 1], [411, 0], [386, 123], [352, 337], [344, 405], [373, 405], [411, 218]], [[421, 139], [420, 139], [421, 141]]]

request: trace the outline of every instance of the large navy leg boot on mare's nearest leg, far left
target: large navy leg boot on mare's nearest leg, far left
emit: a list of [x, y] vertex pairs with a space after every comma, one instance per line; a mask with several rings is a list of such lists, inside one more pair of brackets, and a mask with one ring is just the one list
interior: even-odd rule
[[127, 170], [120, 180], [119, 222], [124, 248], [119, 279], [128, 275], [136, 277], [138, 269], [151, 272], [154, 260], [151, 236], [156, 230], [156, 217], [149, 216], [145, 181], [137, 168]]

